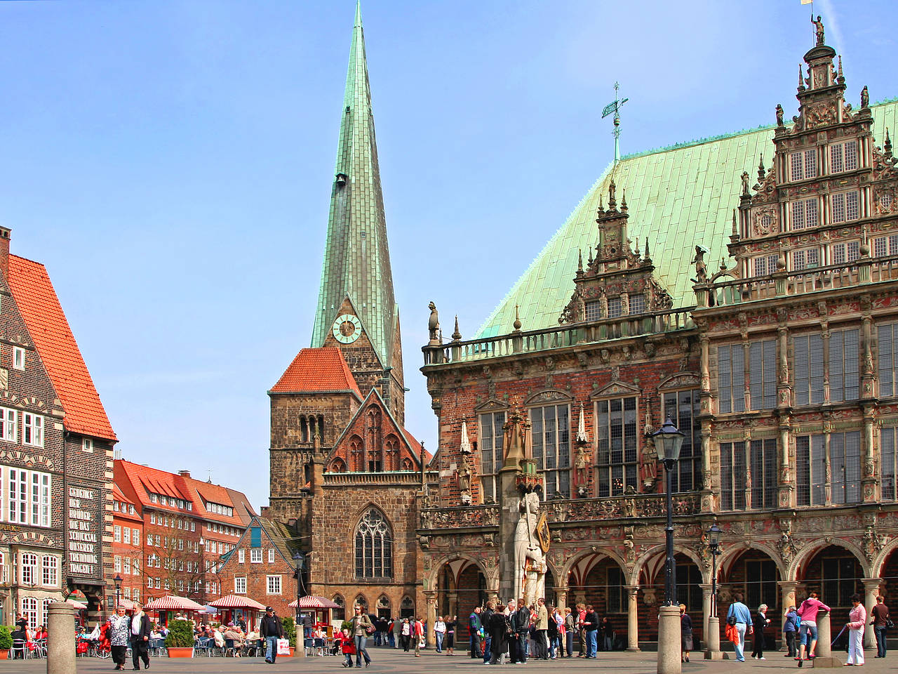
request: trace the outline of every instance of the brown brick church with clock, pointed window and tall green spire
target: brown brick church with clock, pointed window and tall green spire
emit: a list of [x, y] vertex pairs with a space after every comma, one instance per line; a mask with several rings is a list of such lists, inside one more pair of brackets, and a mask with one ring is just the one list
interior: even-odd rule
[[[271, 401], [263, 518], [304, 554], [301, 591], [410, 615], [423, 604], [415, 519], [427, 454], [404, 429], [399, 310], [357, 6], [312, 344]], [[339, 526], [335, 528], [335, 522]], [[351, 610], [350, 610], [351, 613]]]

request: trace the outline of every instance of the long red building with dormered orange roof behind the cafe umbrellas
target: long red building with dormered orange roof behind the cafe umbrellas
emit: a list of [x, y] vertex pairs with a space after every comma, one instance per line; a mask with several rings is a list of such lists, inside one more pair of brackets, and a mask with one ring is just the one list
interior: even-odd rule
[[[122, 459], [115, 461], [115, 483], [143, 520], [138, 571], [144, 600], [169, 594], [200, 604], [218, 599], [221, 555], [233, 550], [256, 514], [246, 496], [194, 480], [186, 470], [168, 473]], [[124, 563], [123, 557], [123, 570]]]

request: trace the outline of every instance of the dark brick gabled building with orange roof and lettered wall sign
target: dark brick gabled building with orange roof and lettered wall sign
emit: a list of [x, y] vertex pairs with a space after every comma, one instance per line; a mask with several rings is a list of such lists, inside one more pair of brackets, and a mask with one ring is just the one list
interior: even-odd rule
[[79, 590], [95, 612], [111, 590], [117, 439], [47, 270], [9, 244], [0, 227], [0, 618], [40, 625], [50, 602]]

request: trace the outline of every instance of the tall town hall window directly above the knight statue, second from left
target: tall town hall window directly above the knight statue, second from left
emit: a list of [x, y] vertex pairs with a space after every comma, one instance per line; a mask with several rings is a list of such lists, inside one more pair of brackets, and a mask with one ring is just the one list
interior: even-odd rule
[[535, 407], [530, 411], [533, 424], [533, 458], [537, 470], [545, 471], [546, 496], [570, 496], [570, 412], [567, 404]]

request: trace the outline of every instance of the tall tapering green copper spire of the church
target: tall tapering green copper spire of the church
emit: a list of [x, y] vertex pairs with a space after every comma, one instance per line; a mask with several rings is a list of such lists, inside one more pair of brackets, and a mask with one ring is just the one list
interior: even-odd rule
[[397, 307], [359, 4], [349, 48], [335, 173], [312, 346], [324, 343], [348, 297], [386, 367], [392, 364]]

